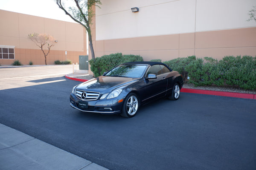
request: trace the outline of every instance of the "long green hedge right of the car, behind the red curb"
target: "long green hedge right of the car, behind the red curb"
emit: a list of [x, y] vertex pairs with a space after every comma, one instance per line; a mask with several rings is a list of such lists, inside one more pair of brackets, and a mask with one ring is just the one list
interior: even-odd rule
[[189, 82], [195, 86], [230, 85], [256, 90], [256, 57], [226, 56], [218, 61], [210, 57], [201, 59], [191, 56], [164, 63], [182, 74], [185, 81], [189, 76]]

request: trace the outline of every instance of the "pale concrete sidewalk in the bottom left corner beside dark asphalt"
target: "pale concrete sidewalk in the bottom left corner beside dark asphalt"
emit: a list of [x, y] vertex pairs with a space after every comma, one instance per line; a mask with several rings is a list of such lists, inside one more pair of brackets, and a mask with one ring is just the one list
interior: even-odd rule
[[108, 170], [0, 124], [1, 170]]

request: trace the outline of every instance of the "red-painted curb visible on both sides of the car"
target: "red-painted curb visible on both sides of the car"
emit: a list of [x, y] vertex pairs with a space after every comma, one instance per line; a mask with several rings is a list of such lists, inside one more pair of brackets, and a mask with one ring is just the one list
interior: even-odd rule
[[[67, 75], [65, 75], [65, 77], [67, 79], [76, 80], [79, 82], [88, 81], [87, 79], [68, 77]], [[226, 96], [226, 97], [236, 97], [236, 98], [242, 98], [242, 99], [256, 99], [256, 94], [235, 93], [235, 92], [225, 92], [225, 91], [209, 91], [209, 90], [199, 90], [199, 89], [192, 89], [192, 88], [181, 88], [180, 92], [195, 93], [195, 94], [208, 94], [208, 95]]]

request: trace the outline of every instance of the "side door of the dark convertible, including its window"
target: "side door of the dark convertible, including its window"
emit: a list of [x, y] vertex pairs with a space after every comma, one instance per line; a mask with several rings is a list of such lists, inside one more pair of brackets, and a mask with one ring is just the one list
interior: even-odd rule
[[146, 100], [163, 97], [166, 94], [167, 79], [166, 74], [162, 73], [160, 65], [152, 65], [146, 74], [155, 74], [156, 79], [145, 79], [142, 102]]

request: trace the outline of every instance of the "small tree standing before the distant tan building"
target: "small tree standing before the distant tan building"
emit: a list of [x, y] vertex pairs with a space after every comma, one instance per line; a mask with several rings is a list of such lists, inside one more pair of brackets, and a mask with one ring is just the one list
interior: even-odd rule
[[[45, 58], [45, 65], [47, 65], [47, 55], [50, 52], [50, 49], [52, 46], [54, 46], [55, 43], [55, 39], [54, 37], [52, 37], [51, 35], [47, 35], [47, 34], [38, 34], [38, 33], [34, 33], [34, 34], [29, 34], [28, 36], [29, 40], [32, 40], [33, 42], [35, 42], [35, 44], [41, 48], [41, 50], [44, 53], [44, 58]], [[47, 45], [47, 51], [44, 51], [43, 47], [44, 45]]]

